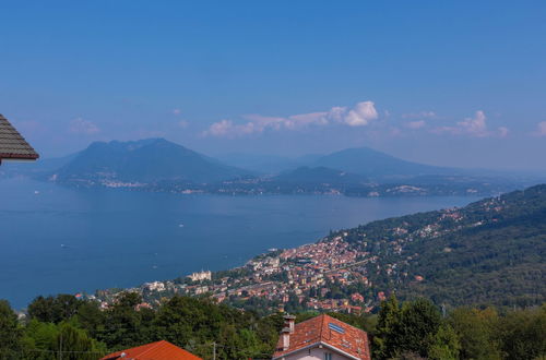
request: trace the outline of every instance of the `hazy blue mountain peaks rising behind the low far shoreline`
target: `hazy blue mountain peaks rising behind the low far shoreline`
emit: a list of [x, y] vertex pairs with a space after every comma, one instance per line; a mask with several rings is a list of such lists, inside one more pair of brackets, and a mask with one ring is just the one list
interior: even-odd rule
[[[263, 173], [259, 168], [275, 170], [275, 179], [305, 181], [332, 179], [334, 172], [361, 181], [364, 177], [416, 177], [430, 175], [454, 175], [455, 169], [411, 163], [373, 151], [348, 148], [329, 155], [309, 155], [299, 158], [262, 155], [232, 155], [212, 158], [164, 139], [147, 139], [131, 142], [96, 142], [71, 158], [58, 169], [61, 180], [110, 178], [123, 181], [181, 180], [190, 182], [215, 182]], [[233, 160], [236, 166], [225, 160]], [[247, 167], [252, 169], [247, 169]], [[313, 170], [310, 170], [313, 169]], [[325, 172], [330, 176], [324, 179]], [[292, 172], [292, 173], [290, 173]], [[461, 171], [459, 171], [461, 172]], [[304, 179], [301, 179], [304, 180]]]

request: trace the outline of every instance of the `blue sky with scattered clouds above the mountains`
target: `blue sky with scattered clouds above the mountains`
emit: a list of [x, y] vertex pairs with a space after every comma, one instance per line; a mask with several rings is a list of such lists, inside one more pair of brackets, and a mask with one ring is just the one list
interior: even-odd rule
[[44, 157], [370, 146], [546, 169], [544, 1], [3, 1], [0, 113]]

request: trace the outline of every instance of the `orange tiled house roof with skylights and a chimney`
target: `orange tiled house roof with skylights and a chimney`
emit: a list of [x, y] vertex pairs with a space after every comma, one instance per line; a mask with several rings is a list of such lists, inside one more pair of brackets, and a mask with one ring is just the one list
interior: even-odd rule
[[283, 350], [282, 341], [281, 336], [273, 359], [323, 345], [348, 355], [348, 358], [370, 360], [368, 334], [325, 314], [296, 324], [287, 350]]

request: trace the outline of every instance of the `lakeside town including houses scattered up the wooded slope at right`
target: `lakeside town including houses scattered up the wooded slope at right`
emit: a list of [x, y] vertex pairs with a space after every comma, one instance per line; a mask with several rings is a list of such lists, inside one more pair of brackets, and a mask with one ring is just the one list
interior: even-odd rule
[[[503, 207], [505, 201], [494, 197], [476, 203], [470, 212], [454, 207], [419, 214], [418, 219], [410, 216], [375, 221], [332, 232], [317, 243], [272, 249], [229, 271], [193, 273], [131, 289], [78, 293], [76, 298], [100, 301], [103, 309], [122, 291], [134, 291], [142, 296], [140, 308], [155, 308], [169, 297], [183, 295], [209, 297], [218, 303], [261, 313], [372, 312], [389, 296], [392, 285], [418, 286], [426, 281], [422, 274], [412, 272], [412, 264], [419, 259], [418, 253], [410, 250], [413, 241], [495, 223], [496, 214]], [[475, 211], [488, 215], [476, 217]]]

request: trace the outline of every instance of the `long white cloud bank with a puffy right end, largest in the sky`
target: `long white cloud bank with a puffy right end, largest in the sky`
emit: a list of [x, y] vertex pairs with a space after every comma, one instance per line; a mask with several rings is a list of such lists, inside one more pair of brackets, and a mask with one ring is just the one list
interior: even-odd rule
[[300, 130], [309, 127], [323, 127], [342, 123], [349, 127], [364, 127], [378, 118], [372, 101], [358, 103], [354, 108], [333, 107], [329, 111], [299, 113], [288, 117], [265, 117], [258, 113], [242, 117], [247, 122], [235, 123], [232, 120], [222, 120], [211, 124], [203, 135], [235, 137], [265, 130]]

